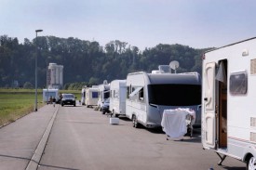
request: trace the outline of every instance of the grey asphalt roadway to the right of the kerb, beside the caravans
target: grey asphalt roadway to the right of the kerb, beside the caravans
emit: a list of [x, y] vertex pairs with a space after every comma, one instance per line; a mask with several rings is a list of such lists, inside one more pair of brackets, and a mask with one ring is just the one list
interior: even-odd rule
[[135, 129], [127, 118], [113, 125], [109, 118], [85, 106], [60, 107], [38, 169], [245, 169], [233, 158], [217, 165], [217, 154], [202, 150], [200, 129], [173, 141], [161, 129]]

